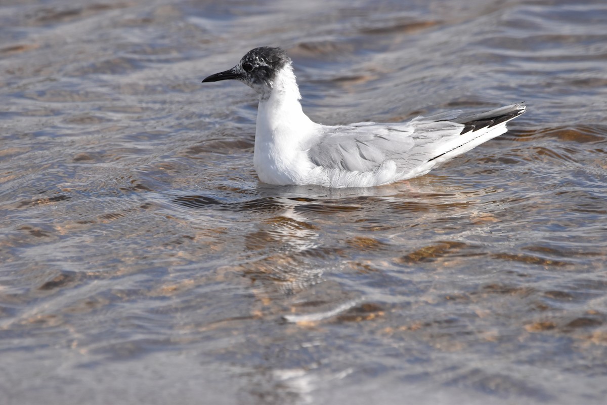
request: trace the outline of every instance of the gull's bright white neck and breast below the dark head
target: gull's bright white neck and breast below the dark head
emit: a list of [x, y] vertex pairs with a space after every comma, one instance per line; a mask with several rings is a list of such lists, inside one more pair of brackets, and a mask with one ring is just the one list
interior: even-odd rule
[[264, 183], [293, 184], [310, 169], [305, 143], [315, 136], [318, 124], [302, 110], [290, 64], [276, 73], [273, 87], [268, 90], [269, 97], [262, 93], [257, 111], [255, 168]]

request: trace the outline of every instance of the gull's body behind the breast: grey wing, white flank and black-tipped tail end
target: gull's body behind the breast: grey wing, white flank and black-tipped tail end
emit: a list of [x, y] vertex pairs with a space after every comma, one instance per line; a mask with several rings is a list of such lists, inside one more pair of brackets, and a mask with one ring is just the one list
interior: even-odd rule
[[482, 114], [458, 117], [450, 112], [408, 123], [323, 126], [324, 133], [308, 145], [308, 157], [317, 166], [311, 175], [331, 187], [410, 179], [503, 134], [507, 121], [524, 110], [523, 104], [512, 104]]

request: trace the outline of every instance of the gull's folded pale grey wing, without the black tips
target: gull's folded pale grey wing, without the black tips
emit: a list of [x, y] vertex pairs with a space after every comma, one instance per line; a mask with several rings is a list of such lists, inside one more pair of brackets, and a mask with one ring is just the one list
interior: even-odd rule
[[458, 136], [464, 126], [419, 117], [409, 123], [322, 128], [324, 135], [308, 150], [311, 161], [327, 169], [366, 172], [387, 161], [395, 162], [401, 171], [409, 171], [435, 157], [439, 145]]

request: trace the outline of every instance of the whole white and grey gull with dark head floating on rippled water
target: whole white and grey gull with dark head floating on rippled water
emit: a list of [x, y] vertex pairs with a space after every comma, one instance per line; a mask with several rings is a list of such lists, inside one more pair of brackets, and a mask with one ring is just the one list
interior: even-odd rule
[[317, 124], [302, 110], [291, 59], [275, 47], [252, 49], [202, 83], [229, 79], [259, 94], [253, 164], [259, 180], [273, 185], [370, 187], [418, 177], [503, 134], [525, 111], [519, 103], [404, 123]]

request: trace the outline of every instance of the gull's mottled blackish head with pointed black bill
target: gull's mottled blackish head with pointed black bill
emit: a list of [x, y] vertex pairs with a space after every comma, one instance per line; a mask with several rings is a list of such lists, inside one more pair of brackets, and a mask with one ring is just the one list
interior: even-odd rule
[[269, 93], [274, 86], [276, 73], [291, 63], [287, 52], [280, 48], [262, 46], [251, 49], [240, 62], [225, 72], [215, 73], [202, 83], [235, 79], [252, 87], [259, 94]]

